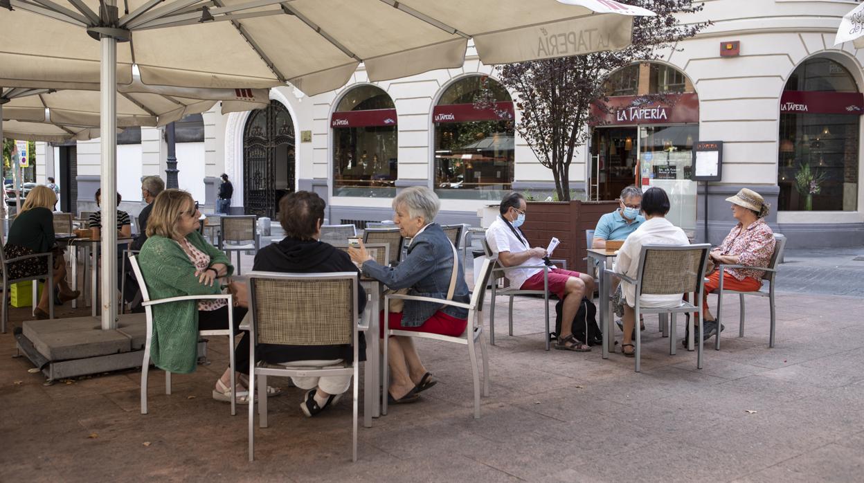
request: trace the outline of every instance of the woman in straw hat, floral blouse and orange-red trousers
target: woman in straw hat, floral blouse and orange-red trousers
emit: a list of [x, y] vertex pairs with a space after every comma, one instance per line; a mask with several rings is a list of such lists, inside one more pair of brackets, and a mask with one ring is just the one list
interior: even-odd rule
[[[710, 253], [715, 264], [767, 267], [774, 253], [774, 233], [765, 222], [770, 207], [762, 195], [752, 189], [741, 188], [738, 194], [726, 199], [732, 202], [732, 216], [738, 220], [723, 243]], [[723, 288], [749, 292], [759, 290], [765, 270], [727, 269], [723, 271]], [[705, 282], [704, 318], [705, 339], [717, 334], [717, 321], [708, 311], [708, 293], [720, 287], [720, 272], [714, 270]], [[721, 326], [720, 331], [723, 330]], [[683, 344], [687, 344], [684, 337]]]

